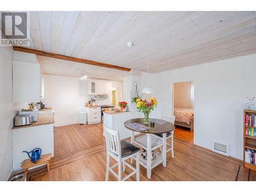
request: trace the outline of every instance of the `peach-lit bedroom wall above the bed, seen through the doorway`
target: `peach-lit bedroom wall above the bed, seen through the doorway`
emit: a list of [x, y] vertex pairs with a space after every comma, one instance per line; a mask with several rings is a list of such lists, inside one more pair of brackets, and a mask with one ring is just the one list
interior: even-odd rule
[[174, 83], [174, 108], [190, 108], [191, 83]]

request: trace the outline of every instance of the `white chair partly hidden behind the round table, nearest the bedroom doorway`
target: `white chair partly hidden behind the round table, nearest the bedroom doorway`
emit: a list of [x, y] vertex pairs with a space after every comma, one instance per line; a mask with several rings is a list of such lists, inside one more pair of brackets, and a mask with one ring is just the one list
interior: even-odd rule
[[[170, 123], [173, 123], [173, 124], [175, 122], [175, 116], [173, 116], [173, 115], [171, 115], [171, 116], [164, 116], [164, 115], [162, 115], [161, 119], [165, 120], [165, 121], [168, 121]], [[161, 134], [161, 133], [160, 134], [154, 134], [154, 137], [157, 137], [158, 139], [162, 140], [163, 139], [163, 134]], [[169, 139], [169, 138], [170, 138], [170, 144], [167, 143], [167, 139]], [[172, 157], [174, 158], [174, 131], [169, 132], [169, 133], [166, 134], [166, 145], [170, 146], [170, 148], [168, 148], [166, 150], [166, 153], [168, 151], [172, 150]]]

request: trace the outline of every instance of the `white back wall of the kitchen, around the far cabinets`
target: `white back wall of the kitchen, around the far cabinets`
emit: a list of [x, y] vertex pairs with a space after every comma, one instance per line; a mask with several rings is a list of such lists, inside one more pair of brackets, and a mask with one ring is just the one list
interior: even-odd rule
[[[88, 95], [88, 80], [75, 77], [42, 75], [45, 79], [46, 107], [55, 112], [55, 126], [78, 123], [78, 112], [85, 111], [86, 103], [95, 98]], [[120, 89], [122, 82], [112, 81]], [[122, 89], [120, 89], [122, 90]], [[111, 104], [109, 98], [95, 98], [96, 104]]]

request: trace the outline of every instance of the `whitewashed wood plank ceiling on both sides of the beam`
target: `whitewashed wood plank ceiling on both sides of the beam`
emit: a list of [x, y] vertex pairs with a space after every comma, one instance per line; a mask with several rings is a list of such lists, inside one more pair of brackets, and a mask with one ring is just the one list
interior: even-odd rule
[[[30, 48], [150, 72], [256, 52], [251, 12], [30, 12]], [[128, 48], [126, 42], [133, 42]], [[120, 80], [122, 71], [38, 57], [44, 74]]]

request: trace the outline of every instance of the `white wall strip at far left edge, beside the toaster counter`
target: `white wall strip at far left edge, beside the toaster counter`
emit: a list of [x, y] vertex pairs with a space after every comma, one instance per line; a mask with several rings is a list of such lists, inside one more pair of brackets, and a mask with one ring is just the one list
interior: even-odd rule
[[20, 104], [12, 103], [12, 47], [0, 47], [0, 180], [12, 172], [12, 125]]

